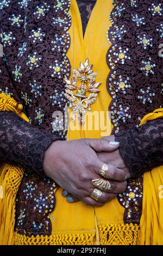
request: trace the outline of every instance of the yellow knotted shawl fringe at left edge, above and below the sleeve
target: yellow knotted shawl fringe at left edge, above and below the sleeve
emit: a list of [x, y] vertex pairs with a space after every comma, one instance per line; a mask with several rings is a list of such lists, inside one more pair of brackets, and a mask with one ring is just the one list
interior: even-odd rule
[[[22, 109], [23, 106], [10, 95], [0, 94], [0, 111], [14, 112], [28, 122]], [[7, 163], [0, 166], [0, 185], [3, 189], [3, 198], [0, 198], [0, 245], [14, 244], [15, 198], [23, 173], [23, 169]]]

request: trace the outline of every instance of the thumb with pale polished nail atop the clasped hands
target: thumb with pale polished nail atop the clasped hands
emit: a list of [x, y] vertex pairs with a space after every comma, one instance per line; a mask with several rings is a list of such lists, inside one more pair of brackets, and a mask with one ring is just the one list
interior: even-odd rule
[[112, 152], [120, 147], [120, 143], [108, 139], [87, 139], [87, 144], [96, 152]]

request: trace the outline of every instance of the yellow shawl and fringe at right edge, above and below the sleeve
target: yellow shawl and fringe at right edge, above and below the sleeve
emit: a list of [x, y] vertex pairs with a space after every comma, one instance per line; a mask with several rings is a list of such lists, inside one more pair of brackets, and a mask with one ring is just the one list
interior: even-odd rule
[[[141, 125], [162, 118], [163, 108], [147, 114]], [[143, 207], [141, 216], [141, 245], [163, 245], [163, 166], [144, 174]]]

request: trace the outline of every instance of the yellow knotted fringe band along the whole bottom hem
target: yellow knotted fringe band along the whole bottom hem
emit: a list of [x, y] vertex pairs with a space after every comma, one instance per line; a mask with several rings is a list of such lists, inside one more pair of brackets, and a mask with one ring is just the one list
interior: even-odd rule
[[[139, 245], [140, 226], [137, 224], [99, 225], [101, 245]], [[95, 233], [26, 236], [14, 233], [14, 245], [94, 245]]]

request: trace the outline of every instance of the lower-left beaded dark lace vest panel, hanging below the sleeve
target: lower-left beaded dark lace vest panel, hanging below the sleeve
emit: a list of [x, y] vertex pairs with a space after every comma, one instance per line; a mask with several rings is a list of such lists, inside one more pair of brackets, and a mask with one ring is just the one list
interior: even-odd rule
[[[43, 187], [43, 190], [42, 190]], [[57, 185], [48, 178], [25, 172], [16, 197], [15, 230], [27, 236], [51, 235], [49, 214], [55, 207]]]

